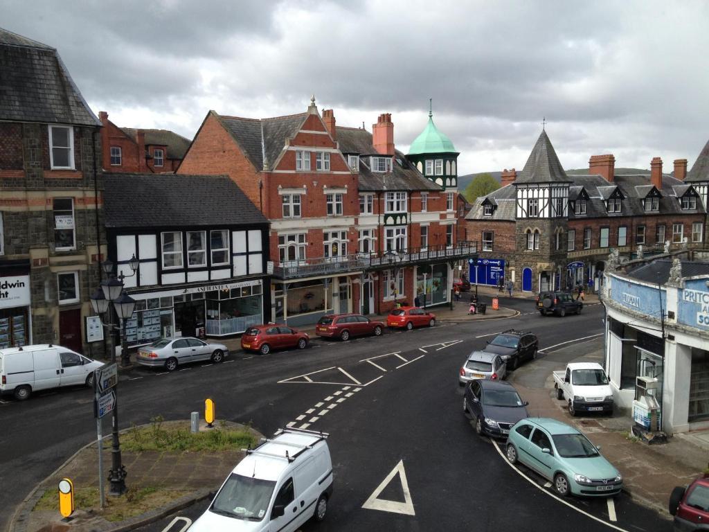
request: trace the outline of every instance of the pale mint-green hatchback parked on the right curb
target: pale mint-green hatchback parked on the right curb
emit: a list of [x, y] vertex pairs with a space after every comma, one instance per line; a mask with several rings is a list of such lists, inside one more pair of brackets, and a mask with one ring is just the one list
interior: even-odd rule
[[515, 423], [507, 440], [507, 459], [523, 463], [550, 480], [567, 497], [608, 497], [620, 493], [623, 477], [581, 431], [549, 418]]

